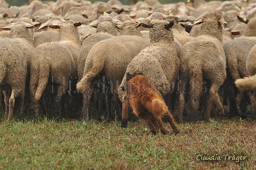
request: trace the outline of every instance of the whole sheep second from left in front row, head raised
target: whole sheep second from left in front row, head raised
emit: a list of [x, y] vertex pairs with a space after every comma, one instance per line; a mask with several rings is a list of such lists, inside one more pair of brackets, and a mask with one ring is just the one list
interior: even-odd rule
[[62, 116], [60, 103], [62, 96], [67, 91], [69, 78], [77, 75], [77, 56], [81, 47], [78, 26], [81, 26], [81, 23], [73, 21], [49, 26], [59, 29], [60, 41], [43, 43], [37, 46], [31, 54], [29, 88], [34, 103], [35, 118], [38, 118], [39, 100], [49, 79], [52, 80], [52, 84], [57, 85], [55, 110], [58, 118]]

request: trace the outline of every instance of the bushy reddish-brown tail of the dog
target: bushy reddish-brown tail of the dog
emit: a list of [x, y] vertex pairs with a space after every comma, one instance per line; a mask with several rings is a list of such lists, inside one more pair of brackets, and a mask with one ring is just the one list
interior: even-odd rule
[[153, 99], [151, 102], [147, 102], [145, 107], [157, 119], [161, 119], [162, 116], [168, 111], [168, 108], [162, 99]]

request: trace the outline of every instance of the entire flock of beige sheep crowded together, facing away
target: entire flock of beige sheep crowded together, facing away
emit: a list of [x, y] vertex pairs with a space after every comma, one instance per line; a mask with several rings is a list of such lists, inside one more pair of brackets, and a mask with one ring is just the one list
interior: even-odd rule
[[19, 7], [0, 0], [5, 118], [13, 119], [17, 98], [22, 115], [31, 108], [38, 118], [49, 116], [51, 106], [62, 117], [67, 100], [81, 97], [82, 118], [96, 103], [99, 115], [122, 116], [125, 127], [122, 87], [135, 71], [153, 82], [179, 123], [191, 111], [206, 120], [212, 112], [223, 115], [223, 105], [246, 116], [256, 88], [255, 14], [254, 0], [30, 0]]

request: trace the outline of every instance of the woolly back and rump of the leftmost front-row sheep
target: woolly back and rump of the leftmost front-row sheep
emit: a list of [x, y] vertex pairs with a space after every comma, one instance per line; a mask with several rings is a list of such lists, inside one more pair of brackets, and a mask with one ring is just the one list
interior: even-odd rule
[[[6, 82], [18, 95], [25, 88], [27, 67], [33, 47], [20, 39], [0, 38], [2, 82]], [[3, 74], [3, 67], [6, 68]]]

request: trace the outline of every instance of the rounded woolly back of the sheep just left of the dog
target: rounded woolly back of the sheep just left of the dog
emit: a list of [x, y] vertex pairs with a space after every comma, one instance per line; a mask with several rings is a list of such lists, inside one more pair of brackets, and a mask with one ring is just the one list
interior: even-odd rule
[[120, 36], [98, 42], [91, 48], [85, 65], [85, 72], [89, 71], [97, 60], [104, 62], [103, 71], [109, 81], [121, 81], [130, 61], [149, 43], [138, 36]]

